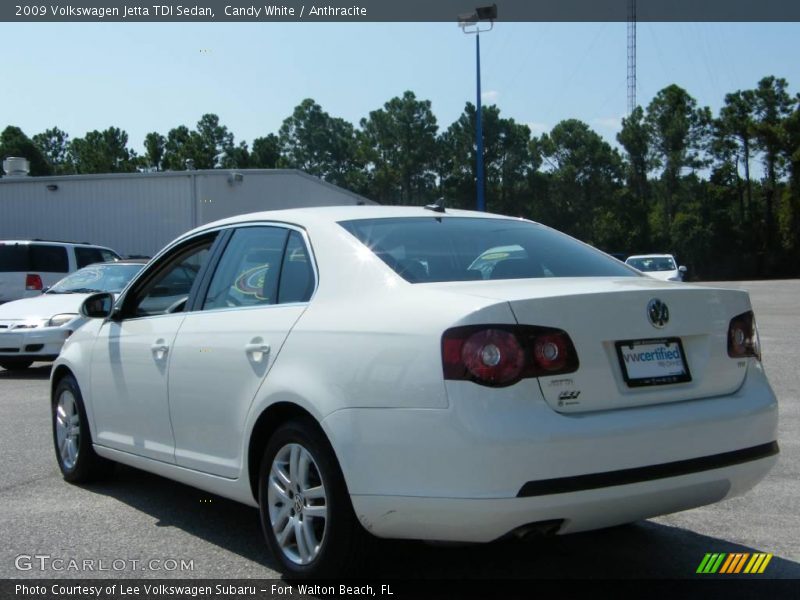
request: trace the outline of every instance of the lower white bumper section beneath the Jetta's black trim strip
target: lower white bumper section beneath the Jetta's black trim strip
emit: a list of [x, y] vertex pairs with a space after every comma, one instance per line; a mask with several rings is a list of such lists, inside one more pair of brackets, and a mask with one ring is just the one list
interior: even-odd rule
[[536, 524], [555, 523], [558, 534], [577, 533], [712, 504], [753, 487], [776, 460], [529, 498], [356, 495], [352, 500], [361, 523], [379, 537], [490, 542]]

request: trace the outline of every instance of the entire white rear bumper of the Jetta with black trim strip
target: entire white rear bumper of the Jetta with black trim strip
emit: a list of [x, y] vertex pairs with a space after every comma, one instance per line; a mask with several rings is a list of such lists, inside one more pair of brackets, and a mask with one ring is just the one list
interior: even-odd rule
[[447, 409], [323, 421], [376, 535], [489, 541], [554, 519], [563, 533], [605, 527], [740, 494], [776, 461], [747, 454], [777, 439], [777, 401], [757, 364], [728, 396], [581, 414], [553, 411], [535, 382], [491, 398], [455, 383]]

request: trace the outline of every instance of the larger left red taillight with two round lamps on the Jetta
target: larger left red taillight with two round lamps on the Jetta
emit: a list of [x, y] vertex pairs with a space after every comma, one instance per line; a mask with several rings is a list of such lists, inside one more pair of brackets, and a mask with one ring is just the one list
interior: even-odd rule
[[578, 354], [565, 331], [532, 325], [471, 325], [442, 336], [444, 378], [492, 387], [572, 373]]

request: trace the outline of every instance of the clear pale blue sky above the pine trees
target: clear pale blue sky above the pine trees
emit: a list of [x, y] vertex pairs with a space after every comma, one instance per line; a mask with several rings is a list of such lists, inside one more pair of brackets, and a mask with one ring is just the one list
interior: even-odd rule
[[[639, 23], [639, 103], [671, 83], [716, 113], [774, 74], [800, 91], [800, 23]], [[497, 23], [484, 102], [534, 133], [578, 118], [610, 141], [626, 112], [625, 23]], [[405, 90], [446, 128], [475, 100], [475, 40], [455, 23], [0, 23], [0, 127], [71, 137], [220, 116], [237, 142], [277, 132], [304, 98], [357, 124]]]

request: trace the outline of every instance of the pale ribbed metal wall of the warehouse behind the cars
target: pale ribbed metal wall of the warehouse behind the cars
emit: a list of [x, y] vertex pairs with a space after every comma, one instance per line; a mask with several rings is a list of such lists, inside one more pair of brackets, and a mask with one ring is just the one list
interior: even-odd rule
[[373, 204], [292, 170], [3, 178], [0, 239], [92, 242], [121, 254], [151, 256], [178, 235], [216, 219], [360, 202]]

